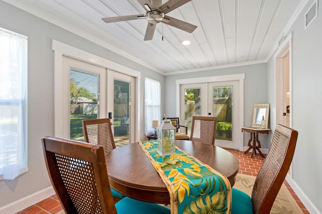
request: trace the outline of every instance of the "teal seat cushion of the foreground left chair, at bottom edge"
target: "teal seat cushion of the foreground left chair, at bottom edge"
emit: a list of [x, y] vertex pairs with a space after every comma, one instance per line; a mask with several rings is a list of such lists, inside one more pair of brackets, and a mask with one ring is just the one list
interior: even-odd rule
[[170, 209], [156, 203], [148, 203], [124, 197], [115, 203], [118, 214], [170, 214]]

